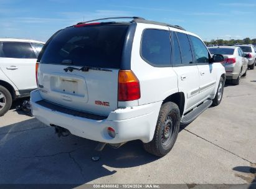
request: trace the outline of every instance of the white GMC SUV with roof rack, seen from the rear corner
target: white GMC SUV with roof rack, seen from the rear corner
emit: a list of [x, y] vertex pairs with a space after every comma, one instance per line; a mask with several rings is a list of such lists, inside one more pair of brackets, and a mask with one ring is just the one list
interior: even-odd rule
[[115, 147], [139, 139], [163, 156], [180, 123], [220, 103], [225, 69], [217, 62], [223, 60], [176, 25], [140, 17], [78, 23], [42, 49], [32, 113], [60, 135], [69, 131]]

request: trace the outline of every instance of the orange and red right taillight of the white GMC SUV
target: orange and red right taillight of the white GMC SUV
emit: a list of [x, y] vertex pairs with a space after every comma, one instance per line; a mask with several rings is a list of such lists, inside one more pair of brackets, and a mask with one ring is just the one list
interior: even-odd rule
[[133, 101], [140, 98], [140, 81], [131, 70], [118, 74], [118, 101]]

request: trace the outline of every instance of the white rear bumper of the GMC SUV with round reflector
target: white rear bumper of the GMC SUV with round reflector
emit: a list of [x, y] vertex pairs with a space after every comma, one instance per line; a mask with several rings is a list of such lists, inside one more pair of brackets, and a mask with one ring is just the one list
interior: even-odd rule
[[[150, 142], [154, 136], [154, 129], [162, 104], [160, 101], [142, 106], [116, 109], [110, 112], [107, 119], [95, 120], [55, 111], [38, 104], [37, 101], [42, 101], [39, 91], [32, 91], [32, 113], [44, 124], [48, 126], [54, 124], [68, 129], [75, 136], [111, 144], [137, 139]], [[116, 136], [114, 138], [108, 136], [107, 127], [115, 129]]]

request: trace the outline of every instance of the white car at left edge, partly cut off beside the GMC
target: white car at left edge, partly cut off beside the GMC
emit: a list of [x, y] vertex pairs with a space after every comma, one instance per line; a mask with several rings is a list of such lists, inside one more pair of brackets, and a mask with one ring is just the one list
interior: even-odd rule
[[36, 60], [44, 42], [29, 39], [0, 39], [0, 116], [12, 101], [30, 95], [36, 85]]

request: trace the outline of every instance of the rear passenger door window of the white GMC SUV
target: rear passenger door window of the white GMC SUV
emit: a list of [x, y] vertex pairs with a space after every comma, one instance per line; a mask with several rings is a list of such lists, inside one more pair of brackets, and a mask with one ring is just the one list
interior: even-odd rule
[[193, 63], [192, 51], [187, 35], [177, 32], [177, 37], [179, 40], [179, 48], [181, 48], [181, 59], [183, 64]]

